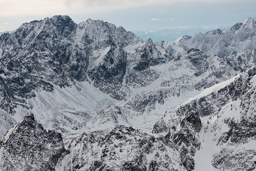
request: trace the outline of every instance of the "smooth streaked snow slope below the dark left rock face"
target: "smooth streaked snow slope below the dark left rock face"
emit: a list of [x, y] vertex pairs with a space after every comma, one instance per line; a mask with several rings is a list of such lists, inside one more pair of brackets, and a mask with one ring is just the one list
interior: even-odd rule
[[[46, 129], [63, 133], [64, 138], [74, 137], [92, 128], [87, 124], [101, 109], [116, 103], [109, 95], [99, 91], [88, 82], [76, 82], [71, 87], [54, 86], [53, 92], [39, 91], [27, 100], [33, 108], [36, 120]], [[15, 119], [26, 115], [27, 110], [17, 108]]]

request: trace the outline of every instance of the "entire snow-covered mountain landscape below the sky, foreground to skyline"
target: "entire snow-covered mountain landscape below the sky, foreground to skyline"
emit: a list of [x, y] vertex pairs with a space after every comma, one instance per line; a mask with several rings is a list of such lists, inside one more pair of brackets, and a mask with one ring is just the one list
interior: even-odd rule
[[1, 35], [0, 168], [254, 169], [255, 26], [153, 43], [58, 15]]

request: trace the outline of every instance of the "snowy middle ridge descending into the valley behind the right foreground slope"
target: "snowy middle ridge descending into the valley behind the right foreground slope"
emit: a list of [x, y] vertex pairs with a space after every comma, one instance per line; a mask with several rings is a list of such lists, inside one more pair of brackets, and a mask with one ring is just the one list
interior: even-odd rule
[[[109, 125], [129, 123], [135, 127], [141, 127], [141, 123], [137, 124], [136, 119], [139, 120], [142, 117], [144, 122], [151, 124], [152, 120], [159, 120], [159, 117], [162, 117], [162, 115], [158, 115], [159, 111], [165, 112], [168, 108], [188, 100], [190, 96], [197, 95], [203, 89], [224, 82], [254, 65], [254, 49], [224, 58], [206, 56], [199, 50], [191, 49], [187, 55], [176, 57], [159, 67], [152, 67], [161, 73], [154, 82], [157, 85], [155, 87], [148, 86], [148, 89], [143, 89], [144, 91], [136, 93], [127, 100], [103, 109], [97, 114], [96, 118], [99, 119], [96, 119], [96, 123], [109, 123]], [[240, 82], [243, 81], [240, 80]], [[237, 92], [232, 93], [236, 94]], [[222, 101], [227, 99], [229, 97], [223, 97]], [[208, 106], [208, 99], [201, 99], [194, 105], [196, 103], [202, 104], [202, 108], [205, 108], [200, 116], [213, 110], [213, 107]], [[220, 105], [218, 103], [217, 106]]]

